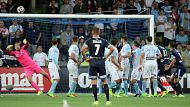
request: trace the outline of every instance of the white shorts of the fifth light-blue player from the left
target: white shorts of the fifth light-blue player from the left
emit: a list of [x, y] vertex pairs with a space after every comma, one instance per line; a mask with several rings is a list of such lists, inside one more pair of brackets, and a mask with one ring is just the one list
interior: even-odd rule
[[131, 80], [140, 80], [142, 72], [138, 70], [138, 68], [133, 69], [131, 73]]

